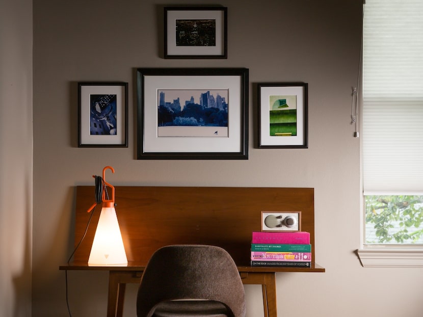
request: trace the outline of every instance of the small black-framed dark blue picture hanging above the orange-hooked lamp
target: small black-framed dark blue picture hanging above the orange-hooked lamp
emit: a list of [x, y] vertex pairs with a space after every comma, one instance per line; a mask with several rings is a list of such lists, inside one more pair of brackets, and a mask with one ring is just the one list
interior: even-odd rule
[[128, 83], [78, 83], [78, 147], [128, 146]]

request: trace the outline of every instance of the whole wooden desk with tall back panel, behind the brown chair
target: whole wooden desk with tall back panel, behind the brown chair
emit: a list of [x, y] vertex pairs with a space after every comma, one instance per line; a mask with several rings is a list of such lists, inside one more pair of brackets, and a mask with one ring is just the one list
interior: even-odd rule
[[[76, 187], [75, 246], [84, 236], [94, 203], [94, 186]], [[60, 270], [109, 271], [108, 317], [122, 315], [127, 283], [139, 283], [155, 250], [172, 244], [219, 246], [234, 259], [244, 284], [262, 288], [265, 317], [277, 317], [277, 272], [325, 272], [311, 268], [250, 266], [251, 232], [260, 231], [261, 212], [301, 212], [301, 227], [310, 233], [314, 252], [314, 189], [248, 187], [118, 187], [116, 213], [127, 266], [89, 267], [88, 257], [99, 212], [93, 216], [73, 262]]]

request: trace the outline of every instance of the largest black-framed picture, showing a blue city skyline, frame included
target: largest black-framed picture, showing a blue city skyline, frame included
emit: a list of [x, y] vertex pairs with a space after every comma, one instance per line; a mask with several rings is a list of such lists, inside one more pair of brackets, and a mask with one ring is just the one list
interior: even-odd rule
[[247, 68], [137, 69], [138, 159], [248, 159]]

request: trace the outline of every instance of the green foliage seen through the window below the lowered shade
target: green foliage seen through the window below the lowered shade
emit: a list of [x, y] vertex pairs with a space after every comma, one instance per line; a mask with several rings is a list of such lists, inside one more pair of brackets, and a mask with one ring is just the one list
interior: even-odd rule
[[366, 228], [374, 226], [367, 244], [423, 243], [423, 196], [367, 195]]

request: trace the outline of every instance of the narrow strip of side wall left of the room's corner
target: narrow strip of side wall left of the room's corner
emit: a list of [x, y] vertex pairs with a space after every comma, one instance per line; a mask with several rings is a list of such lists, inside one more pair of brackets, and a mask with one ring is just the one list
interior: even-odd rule
[[0, 2], [0, 316], [31, 316], [32, 1]]

